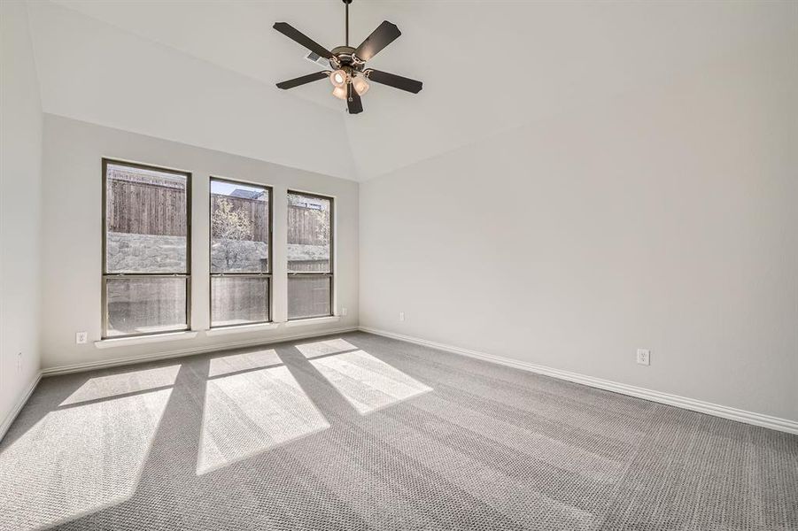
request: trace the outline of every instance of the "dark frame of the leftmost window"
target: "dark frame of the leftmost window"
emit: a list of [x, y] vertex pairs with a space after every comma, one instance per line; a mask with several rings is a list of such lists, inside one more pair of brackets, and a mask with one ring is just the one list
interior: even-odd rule
[[[140, 170], [151, 170], [160, 173], [173, 173], [175, 175], [182, 175], [186, 178], [186, 271], [184, 273], [108, 273], [108, 165], [124, 165], [131, 168]], [[157, 165], [142, 164], [139, 162], [130, 162], [120, 158], [102, 158], [102, 187], [103, 187], [103, 207], [102, 207], [102, 240], [103, 240], [103, 257], [102, 257], [102, 270], [100, 276], [100, 312], [102, 314], [102, 330], [101, 339], [122, 339], [128, 337], [143, 337], [150, 335], [164, 335], [175, 334], [180, 332], [187, 332], [191, 330], [191, 204], [193, 203], [193, 196], [191, 194], [191, 181], [192, 173], [185, 170], [177, 170], [174, 168], [165, 168]], [[172, 330], [161, 330], [159, 332], [141, 332], [136, 334], [120, 334], [108, 335], [108, 279], [135, 279], [135, 278], [182, 278], [186, 283], [186, 327], [175, 328]]]

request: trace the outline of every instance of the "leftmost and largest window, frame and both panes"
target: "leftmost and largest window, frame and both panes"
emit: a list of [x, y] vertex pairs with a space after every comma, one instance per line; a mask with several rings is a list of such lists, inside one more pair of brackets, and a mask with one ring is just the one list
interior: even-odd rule
[[190, 327], [191, 174], [103, 159], [103, 337]]

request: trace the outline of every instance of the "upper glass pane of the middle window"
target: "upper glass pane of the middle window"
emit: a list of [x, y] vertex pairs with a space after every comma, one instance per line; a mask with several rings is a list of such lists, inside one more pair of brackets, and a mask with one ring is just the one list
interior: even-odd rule
[[269, 189], [211, 180], [211, 273], [267, 273]]

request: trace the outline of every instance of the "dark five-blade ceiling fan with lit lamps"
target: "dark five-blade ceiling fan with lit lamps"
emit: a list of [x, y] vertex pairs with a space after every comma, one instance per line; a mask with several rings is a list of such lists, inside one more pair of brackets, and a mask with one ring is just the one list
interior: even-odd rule
[[346, 108], [350, 114], [363, 112], [363, 103], [360, 96], [368, 90], [368, 81], [374, 81], [383, 85], [388, 85], [395, 89], [407, 90], [413, 94], [418, 94], [422, 89], [422, 82], [411, 80], [394, 73], [387, 73], [374, 68], [366, 68], [366, 61], [370, 60], [386, 46], [395, 41], [402, 32], [395, 24], [384, 20], [366, 40], [360, 42], [360, 46], [353, 48], [349, 45], [349, 4], [352, 0], [343, 0], [346, 5], [346, 44], [337, 46], [332, 50], [327, 50], [318, 42], [292, 27], [287, 22], [275, 22], [274, 28], [287, 36], [289, 39], [298, 42], [306, 49], [311, 50], [320, 58], [329, 61], [332, 70], [308, 73], [301, 77], [277, 83], [279, 89], [293, 89], [299, 85], [304, 85], [312, 81], [319, 81], [328, 78], [333, 84], [332, 94], [337, 98], [346, 101]]

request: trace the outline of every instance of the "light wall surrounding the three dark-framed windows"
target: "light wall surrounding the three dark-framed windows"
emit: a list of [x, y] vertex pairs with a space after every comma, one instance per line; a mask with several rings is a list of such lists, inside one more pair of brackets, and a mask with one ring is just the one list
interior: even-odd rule
[[[101, 335], [100, 278], [102, 273], [103, 157], [131, 160], [189, 171], [192, 181], [191, 321], [197, 338], [98, 350]], [[336, 306], [347, 316], [338, 322], [304, 327], [209, 337], [208, 317], [208, 179], [227, 177], [274, 187], [275, 235], [273, 280], [275, 320], [286, 316], [285, 241], [287, 189], [336, 198]], [[223, 348], [231, 342], [270, 341], [358, 324], [358, 184], [205, 150], [150, 136], [137, 135], [44, 115], [43, 159], [43, 290], [42, 365], [61, 367], [128, 358], [155, 352]], [[89, 332], [87, 344], [75, 344], [75, 332]]]

